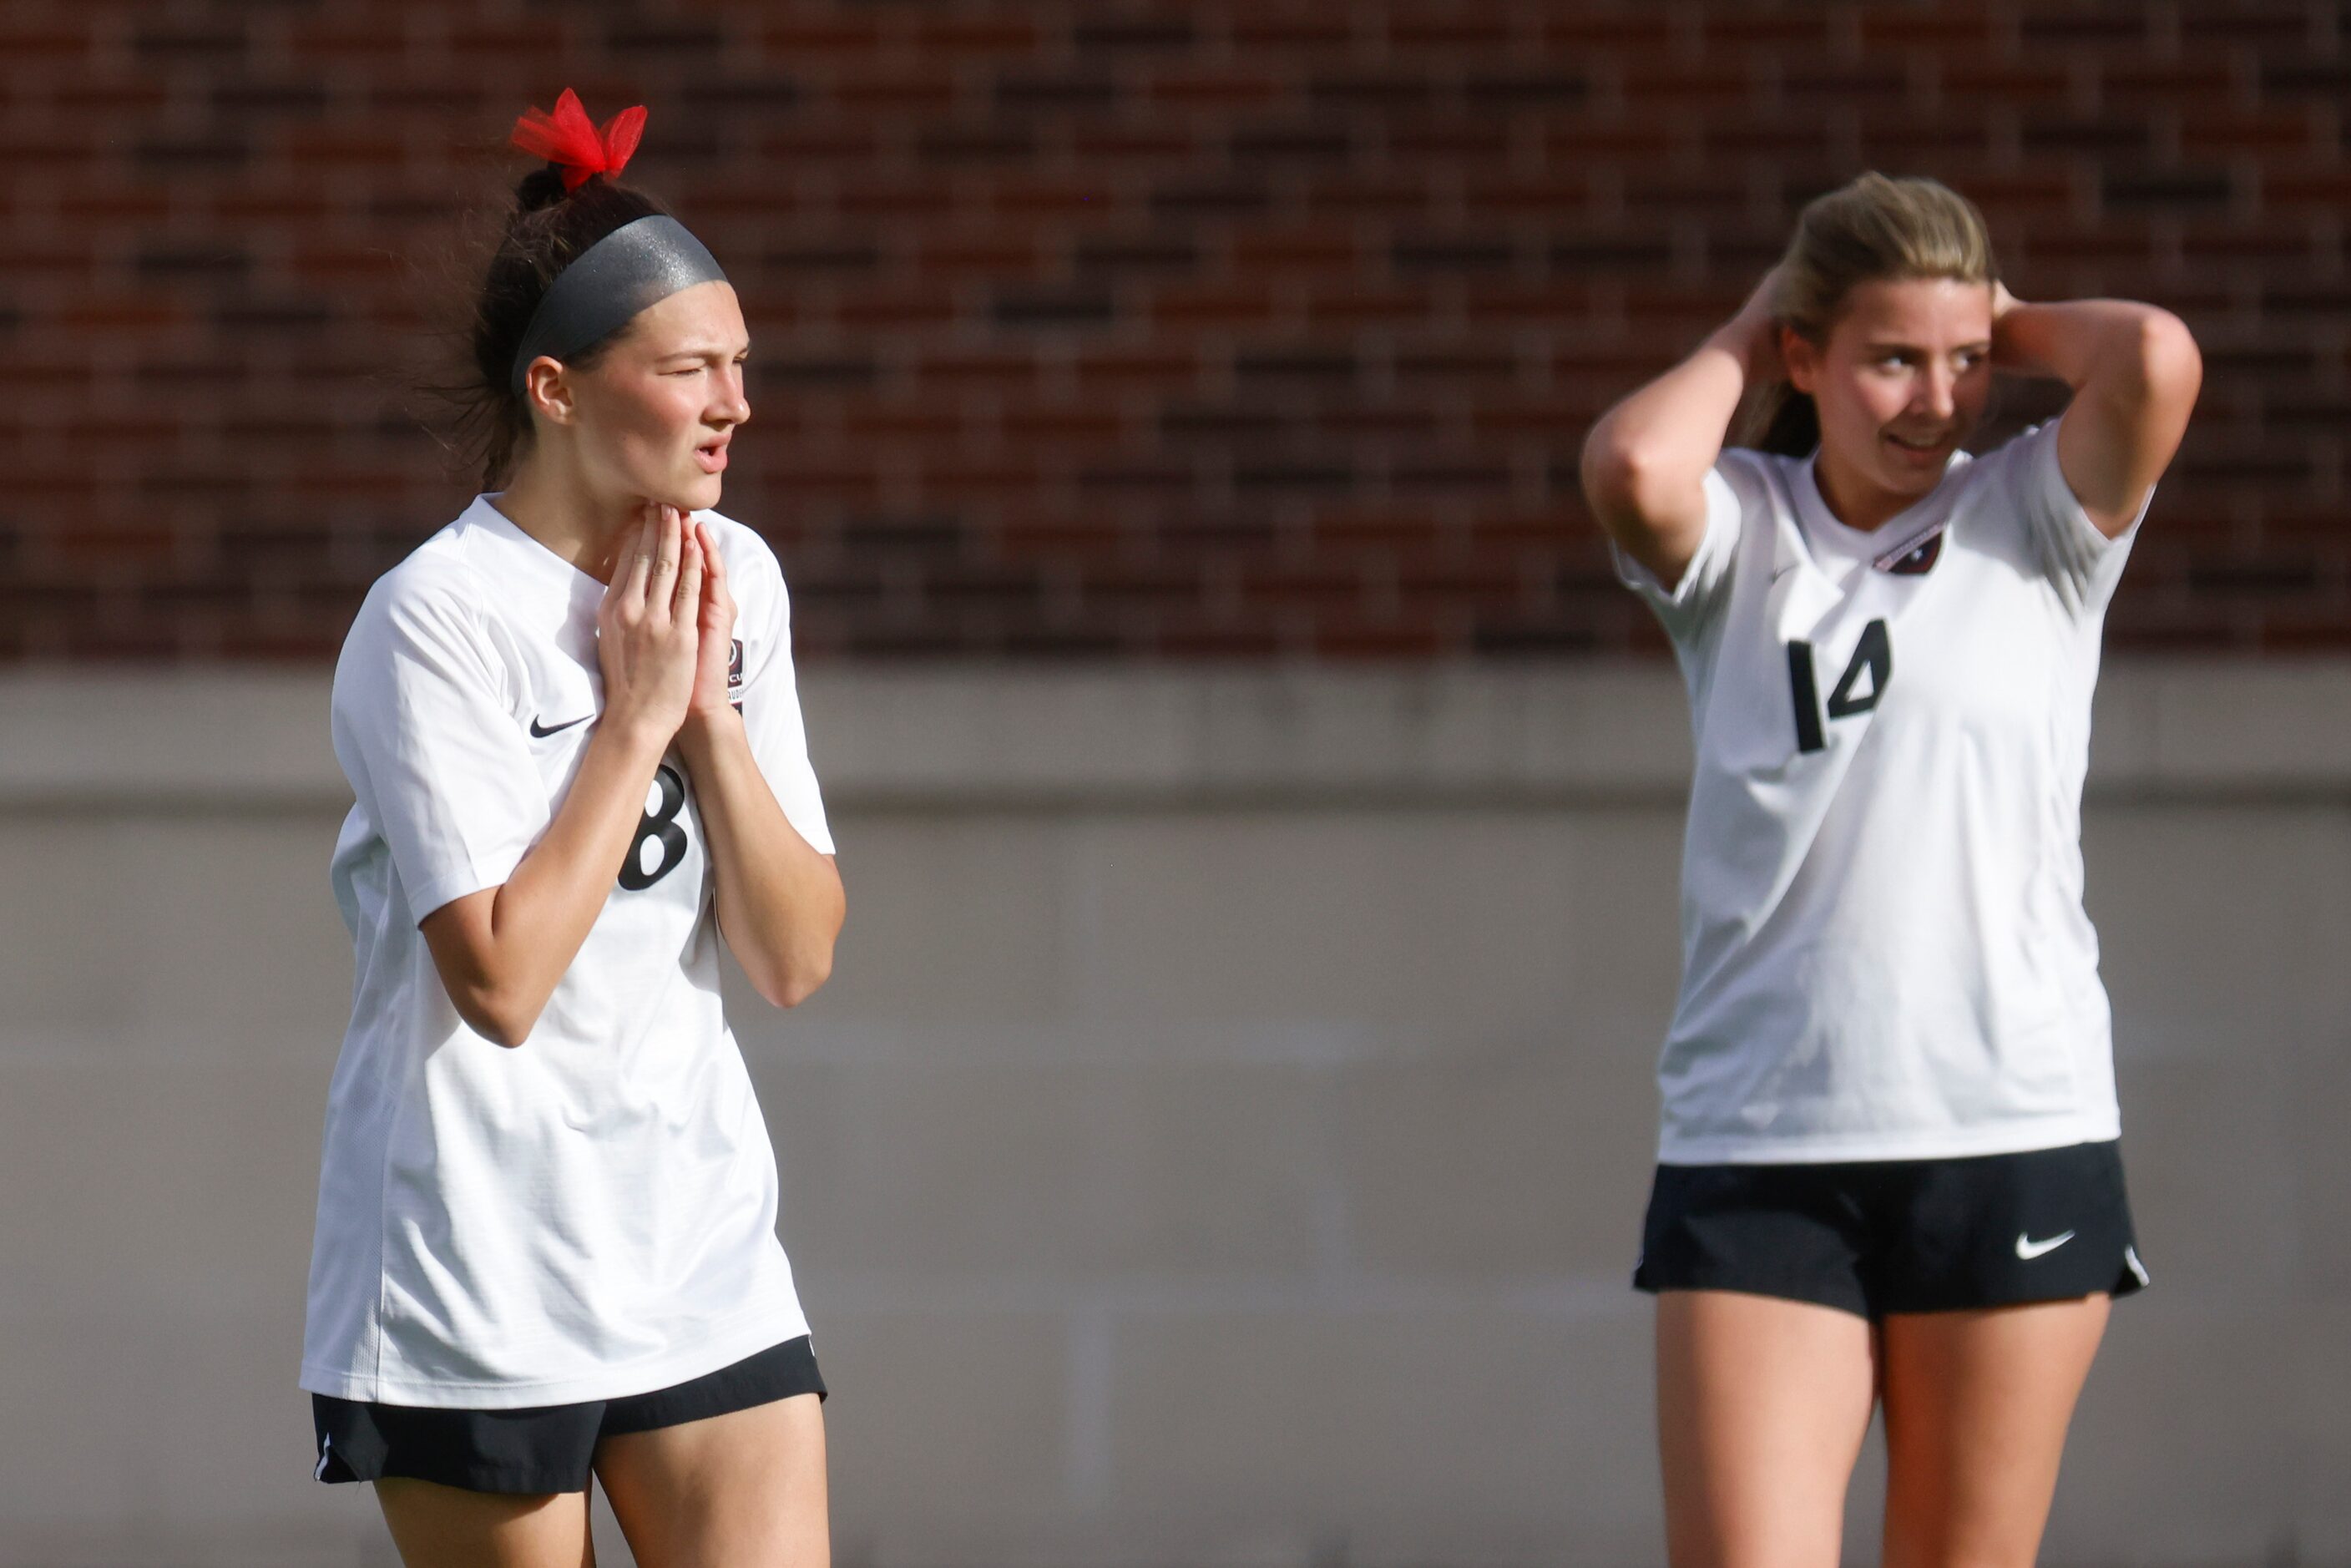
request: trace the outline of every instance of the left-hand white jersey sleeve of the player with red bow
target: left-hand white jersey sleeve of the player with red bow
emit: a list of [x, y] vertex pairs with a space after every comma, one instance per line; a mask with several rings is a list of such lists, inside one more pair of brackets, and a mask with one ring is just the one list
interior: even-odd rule
[[503, 884], [548, 797], [480, 618], [456, 595], [381, 585], [334, 672], [334, 752], [423, 922]]

